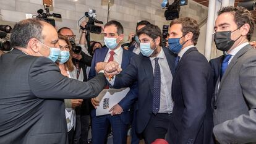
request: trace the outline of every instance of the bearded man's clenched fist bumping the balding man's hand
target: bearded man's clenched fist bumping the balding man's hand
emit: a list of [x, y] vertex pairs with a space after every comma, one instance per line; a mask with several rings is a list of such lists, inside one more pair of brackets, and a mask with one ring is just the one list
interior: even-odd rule
[[111, 76], [111, 75], [116, 75], [121, 71], [122, 69], [119, 68], [119, 64], [116, 61], [111, 61], [111, 62], [108, 62], [108, 64], [106, 64], [104, 69], [104, 74], [106, 76]]

